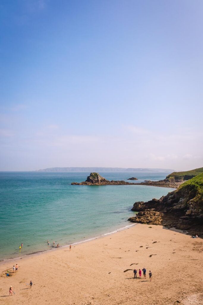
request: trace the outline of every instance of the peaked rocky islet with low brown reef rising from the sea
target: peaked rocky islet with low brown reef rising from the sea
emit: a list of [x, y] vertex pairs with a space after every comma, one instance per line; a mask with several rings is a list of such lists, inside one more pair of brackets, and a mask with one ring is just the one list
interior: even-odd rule
[[83, 182], [72, 182], [72, 185], [135, 185], [135, 183], [126, 182], [124, 180], [121, 181], [114, 181], [114, 180], [107, 180], [100, 176], [98, 173], [91, 173], [86, 181]]

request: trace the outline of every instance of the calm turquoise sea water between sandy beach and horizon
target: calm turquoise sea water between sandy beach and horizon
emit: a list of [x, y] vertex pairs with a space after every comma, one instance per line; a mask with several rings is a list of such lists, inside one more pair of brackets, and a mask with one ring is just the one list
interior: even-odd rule
[[[110, 180], [160, 180], [166, 173], [103, 172]], [[172, 188], [145, 185], [70, 185], [89, 173], [0, 172], [0, 260], [86, 240], [129, 224], [135, 201]], [[135, 181], [136, 182], [136, 181]], [[50, 245], [47, 245], [47, 239]], [[19, 245], [23, 248], [19, 251]]]

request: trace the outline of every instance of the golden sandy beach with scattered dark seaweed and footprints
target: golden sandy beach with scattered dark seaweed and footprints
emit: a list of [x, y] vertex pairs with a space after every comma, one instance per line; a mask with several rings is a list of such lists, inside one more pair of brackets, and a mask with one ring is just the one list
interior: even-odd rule
[[[71, 251], [59, 248], [3, 262], [1, 272], [16, 262], [19, 271], [9, 278], [0, 277], [0, 302], [15, 305], [203, 304], [202, 253], [202, 239], [191, 239], [189, 235], [161, 226], [137, 224], [72, 246]], [[145, 267], [147, 279], [143, 275], [141, 279], [134, 279], [133, 271], [124, 272], [134, 267]], [[149, 282], [149, 270], [152, 282]], [[30, 280], [32, 289], [26, 285]], [[8, 296], [10, 285], [16, 292], [14, 296]]]

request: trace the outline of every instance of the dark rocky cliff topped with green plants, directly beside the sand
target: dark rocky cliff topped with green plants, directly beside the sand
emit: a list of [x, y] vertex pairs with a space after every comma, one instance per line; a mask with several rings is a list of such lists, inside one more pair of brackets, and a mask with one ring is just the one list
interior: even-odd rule
[[131, 222], [175, 227], [203, 236], [203, 174], [160, 199], [135, 202], [131, 210], [138, 212], [128, 219]]

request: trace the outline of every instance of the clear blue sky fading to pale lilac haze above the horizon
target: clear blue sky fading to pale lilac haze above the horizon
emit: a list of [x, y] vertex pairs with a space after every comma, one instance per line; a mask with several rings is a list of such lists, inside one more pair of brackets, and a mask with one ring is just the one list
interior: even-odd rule
[[0, 2], [0, 170], [203, 166], [202, 1]]

